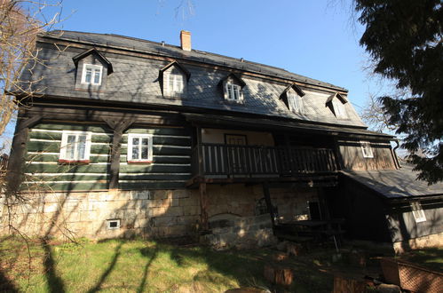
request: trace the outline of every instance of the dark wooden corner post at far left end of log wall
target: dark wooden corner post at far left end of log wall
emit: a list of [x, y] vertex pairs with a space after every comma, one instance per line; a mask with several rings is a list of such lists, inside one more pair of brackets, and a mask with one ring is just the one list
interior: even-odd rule
[[15, 135], [12, 140], [11, 156], [8, 162], [8, 171], [6, 173], [7, 193], [12, 194], [19, 191], [21, 184], [21, 168], [24, 162], [24, 156], [28, 144], [29, 128], [42, 120], [43, 115], [34, 115], [28, 119], [19, 118], [15, 127]]

